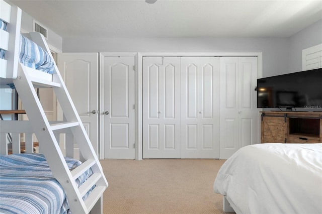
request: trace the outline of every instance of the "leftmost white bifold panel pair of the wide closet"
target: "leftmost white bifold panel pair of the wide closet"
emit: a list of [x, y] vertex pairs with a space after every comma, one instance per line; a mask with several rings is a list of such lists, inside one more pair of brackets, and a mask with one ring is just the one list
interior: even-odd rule
[[143, 158], [181, 158], [181, 59], [142, 61]]

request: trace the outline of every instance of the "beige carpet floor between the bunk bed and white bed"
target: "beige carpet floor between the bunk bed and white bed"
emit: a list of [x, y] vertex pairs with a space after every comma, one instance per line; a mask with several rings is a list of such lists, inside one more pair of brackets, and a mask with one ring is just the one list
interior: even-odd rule
[[213, 182], [224, 160], [101, 160], [104, 213], [225, 213]]

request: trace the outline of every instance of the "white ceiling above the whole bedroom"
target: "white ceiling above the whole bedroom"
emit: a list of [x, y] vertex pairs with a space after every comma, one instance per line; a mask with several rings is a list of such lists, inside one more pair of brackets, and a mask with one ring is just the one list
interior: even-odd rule
[[289, 37], [322, 19], [322, 0], [10, 1], [61, 37]]

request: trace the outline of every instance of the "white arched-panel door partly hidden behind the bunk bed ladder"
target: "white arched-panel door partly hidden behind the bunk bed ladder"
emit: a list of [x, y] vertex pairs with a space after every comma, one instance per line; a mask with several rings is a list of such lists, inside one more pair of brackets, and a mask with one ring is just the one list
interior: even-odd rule
[[[99, 155], [98, 53], [58, 53], [57, 64], [94, 150]], [[57, 120], [62, 120], [61, 108], [57, 111]], [[78, 157], [76, 144], [74, 150], [74, 157]]]

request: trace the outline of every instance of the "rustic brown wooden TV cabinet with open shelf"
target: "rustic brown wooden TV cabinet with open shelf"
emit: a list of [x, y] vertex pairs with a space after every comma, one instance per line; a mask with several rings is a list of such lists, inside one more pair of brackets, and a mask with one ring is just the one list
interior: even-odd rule
[[262, 143], [322, 143], [322, 112], [261, 112]]

